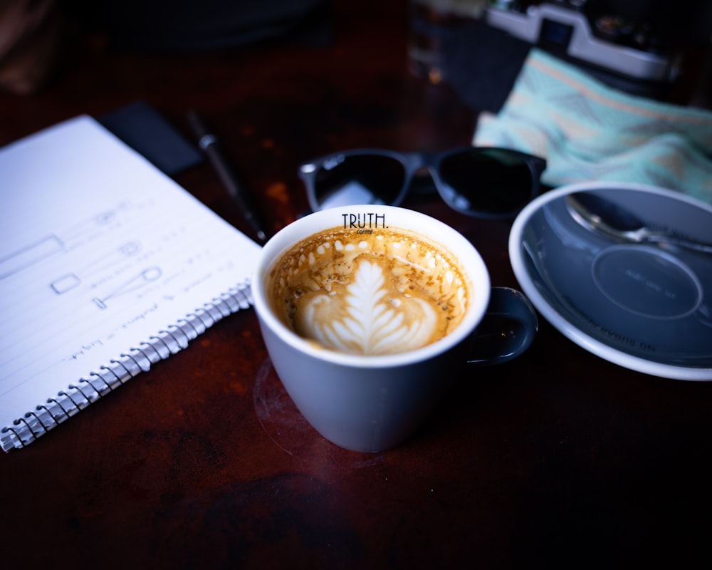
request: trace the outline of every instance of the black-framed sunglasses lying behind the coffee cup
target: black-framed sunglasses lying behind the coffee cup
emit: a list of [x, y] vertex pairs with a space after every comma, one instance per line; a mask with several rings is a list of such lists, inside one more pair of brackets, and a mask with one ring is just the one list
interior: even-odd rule
[[543, 158], [508, 148], [432, 153], [365, 148], [305, 162], [299, 177], [316, 212], [355, 204], [397, 206], [416, 172], [425, 169], [449, 207], [468, 216], [509, 219], [538, 195], [545, 167]]

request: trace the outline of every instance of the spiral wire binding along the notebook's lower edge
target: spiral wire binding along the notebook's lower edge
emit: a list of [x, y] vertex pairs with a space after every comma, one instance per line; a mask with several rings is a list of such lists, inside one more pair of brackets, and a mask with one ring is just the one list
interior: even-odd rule
[[248, 309], [252, 304], [249, 282], [230, 289], [219, 298], [195, 309], [175, 324], [168, 325], [157, 335], [121, 353], [119, 358], [92, 371], [88, 378], [80, 378], [56, 396], [28, 411], [12, 425], [0, 430], [0, 447], [3, 451], [25, 447], [53, 427], [71, 418], [99, 398], [115, 390], [130, 378], [150, 370], [172, 354], [187, 348], [190, 341], [204, 333], [221, 318]]

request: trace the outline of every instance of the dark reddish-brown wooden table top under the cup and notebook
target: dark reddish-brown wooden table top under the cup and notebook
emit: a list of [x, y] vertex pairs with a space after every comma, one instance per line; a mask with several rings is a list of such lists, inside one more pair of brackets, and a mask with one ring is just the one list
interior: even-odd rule
[[[136, 100], [189, 135], [194, 108], [275, 231], [306, 208], [301, 160], [470, 142], [476, 111], [409, 75], [406, 29], [402, 1], [337, 1], [325, 45], [140, 56], [90, 37], [46, 90], [0, 95], [0, 144]], [[177, 180], [247, 229], [207, 163]], [[516, 286], [508, 223], [407, 205]], [[0, 568], [708, 568], [711, 458], [711, 384], [620, 368], [545, 321], [522, 358], [458, 378], [411, 440], [347, 452], [295, 411], [241, 311], [0, 454]]]

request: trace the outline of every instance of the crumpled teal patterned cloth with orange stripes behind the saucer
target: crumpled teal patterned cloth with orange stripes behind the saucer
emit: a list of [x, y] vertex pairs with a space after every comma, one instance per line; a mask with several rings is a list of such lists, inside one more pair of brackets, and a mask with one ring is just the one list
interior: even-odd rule
[[536, 48], [473, 144], [545, 157], [553, 187], [638, 182], [712, 202], [712, 112], [622, 93]]

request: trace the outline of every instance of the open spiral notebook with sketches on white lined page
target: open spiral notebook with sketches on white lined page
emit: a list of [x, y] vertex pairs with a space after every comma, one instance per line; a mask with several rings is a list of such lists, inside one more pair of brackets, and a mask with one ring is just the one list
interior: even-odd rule
[[0, 445], [251, 304], [260, 247], [96, 120], [0, 149]]

